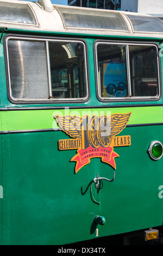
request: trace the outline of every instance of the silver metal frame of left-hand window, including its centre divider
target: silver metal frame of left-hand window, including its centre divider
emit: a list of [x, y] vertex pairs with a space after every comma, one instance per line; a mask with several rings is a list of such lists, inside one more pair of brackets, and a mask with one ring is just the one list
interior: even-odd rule
[[[8, 41], [10, 39], [14, 40], [24, 40], [24, 41], [44, 41], [45, 42], [45, 50], [47, 56], [47, 78], [48, 78], [48, 88], [49, 93], [51, 92], [51, 70], [50, 70], [50, 59], [48, 58], [48, 41], [49, 42], [79, 42], [83, 44], [84, 48], [84, 66], [85, 66], [85, 92], [86, 96], [81, 98], [60, 98], [55, 99], [51, 97], [49, 99], [15, 99], [12, 97], [11, 93], [11, 82], [10, 82], [10, 68], [9, 68], [9, 53], [8, 53]], [[89, 79], [89, 63], [88, 63], [88, 51], [87, 45], [84, 39], [80, 38], [62, 38], [62, 37], [48, 37], [48, 36], [28, 36], [28, 35], [16, 35], [16, 34], [8, 34], [5, 35], [3, 38], [4, 42], [4, 56], [5, 56], [5, 70], [6, 70], [6, 77], [7, 77], [7, 94], [8, 100], [14, 104], [43, 104], [43, 103], [83, 103], [87, 102], [90, 99], [90, 79]]]

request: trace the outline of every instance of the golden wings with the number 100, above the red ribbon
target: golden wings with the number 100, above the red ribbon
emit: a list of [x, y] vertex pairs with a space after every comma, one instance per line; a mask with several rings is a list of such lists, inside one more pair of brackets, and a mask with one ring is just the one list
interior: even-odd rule
[[[83, 118], [66, 115], [65, 117], [55, 115], [60, 128], [73, 138], [82, 139], [82, 149], [109, 147], [112, 137], [118, 135], [127, 125], [131, 112], [128, 114], [112, 114], [110, 117], [102, 115], [100, 118], [93, 115], [91, 118], [84, 116]], [[85, 121], [86, 133], [82, 129], [82, 122]]]

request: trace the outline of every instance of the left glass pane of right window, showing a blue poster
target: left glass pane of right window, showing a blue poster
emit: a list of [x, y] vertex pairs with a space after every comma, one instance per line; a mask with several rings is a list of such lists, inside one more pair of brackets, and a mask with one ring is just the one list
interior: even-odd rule
[[99, 95], [128, 96], [126, 46], [99, 44], [97, 46]]

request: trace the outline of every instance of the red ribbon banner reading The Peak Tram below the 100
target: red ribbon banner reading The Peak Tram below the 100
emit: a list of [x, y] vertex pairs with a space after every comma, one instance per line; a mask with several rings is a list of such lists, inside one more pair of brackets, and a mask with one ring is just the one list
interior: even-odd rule
[[73, 156], [70, 161], [76, 161], [76, 169], [75, 172], [77, 173], [83, 166], [90, 163], [90, 159], [94, 157], [100, 157], [103, 162], [110, 164], [112, 167], [116, 169], [115, 164], [115, 157], [119, 155], [113, 151], [114, 148], [108, 147], [99, 147], [99, 148], [92, 148], [89, 146], [86, 149], [78, 149], [77, 155]]

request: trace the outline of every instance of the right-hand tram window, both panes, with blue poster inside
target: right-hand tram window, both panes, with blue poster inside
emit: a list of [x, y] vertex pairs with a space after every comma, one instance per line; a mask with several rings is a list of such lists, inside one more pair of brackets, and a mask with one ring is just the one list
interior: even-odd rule
[[107, 99], [159, 96], [158, 58], [154, 45], [97, 43], [98, 94]]

